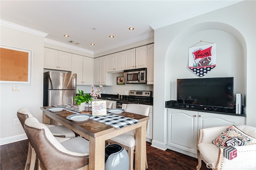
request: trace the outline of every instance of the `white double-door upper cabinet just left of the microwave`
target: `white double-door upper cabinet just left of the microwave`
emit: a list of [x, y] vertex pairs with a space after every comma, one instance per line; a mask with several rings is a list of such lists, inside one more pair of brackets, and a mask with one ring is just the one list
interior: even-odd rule
[[107, 72], [122, 72], [125, 67], [125, 51], [107, 55]]

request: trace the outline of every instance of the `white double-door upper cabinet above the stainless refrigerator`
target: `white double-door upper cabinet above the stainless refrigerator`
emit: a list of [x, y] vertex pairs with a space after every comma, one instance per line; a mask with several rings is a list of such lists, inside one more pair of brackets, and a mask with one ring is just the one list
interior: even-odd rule
[[44, 68], [53, 70], [72, 70], [72, 54], [55, 49], [44, 48]]

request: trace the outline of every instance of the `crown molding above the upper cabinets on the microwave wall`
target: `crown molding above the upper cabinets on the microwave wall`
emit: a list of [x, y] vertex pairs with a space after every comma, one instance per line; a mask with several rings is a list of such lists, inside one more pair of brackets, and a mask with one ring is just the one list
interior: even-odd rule
[[118, 44], [110, 45], [106, 48], [102, 48], [98, 51], [94, 51], [94, 54], [102, 53], [104, 51], [108, 51], [108, 50], [111, 50], [111, 49], [122, 47], [124, 45], [129, 45], [129, 44], [132, 44], [132, 43], [136, 43], [138, 41], [142, 41], [144, 39], [149, 39], [149, 38], [152, 38], [152, 37], [154, 37], [154, 32], [148, 33], [148, 34], [145, 34], [145, 35], [141, 35], [141, 36], [138, 36], [138, 37], [135, 37], [135, 38], [132, 38], [132, 39], [128, 39], [128, 40], [123, 41], [123, 42], [118, 43]]

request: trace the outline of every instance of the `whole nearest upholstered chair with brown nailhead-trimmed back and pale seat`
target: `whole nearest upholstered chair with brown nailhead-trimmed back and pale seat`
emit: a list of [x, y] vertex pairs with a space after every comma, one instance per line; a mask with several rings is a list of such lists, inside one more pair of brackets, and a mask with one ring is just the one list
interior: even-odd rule
[[35, 117], [24, 122], [28, 140], [38, 156], [39, 169], [87, 170], [89, 165], [89, 141], [74, 137], [60, 143], [46, 125]]

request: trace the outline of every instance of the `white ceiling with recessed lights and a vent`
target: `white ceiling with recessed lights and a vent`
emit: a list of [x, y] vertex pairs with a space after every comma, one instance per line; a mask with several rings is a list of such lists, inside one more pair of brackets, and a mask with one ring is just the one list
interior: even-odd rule
[[[237, 2], [240, 1], [1, 0], [0, 19], [2, 23], [7, 21], [47, 33], [46, 41], [57, 41], [96, 54], [154, 37], [154, 29]], [[135, 29], [130, 31], [128, 27]], [[68, 43], [70, 40], [80, 44]]]

